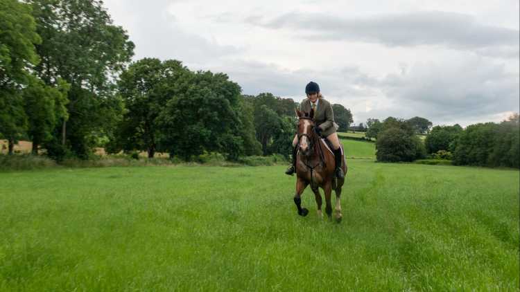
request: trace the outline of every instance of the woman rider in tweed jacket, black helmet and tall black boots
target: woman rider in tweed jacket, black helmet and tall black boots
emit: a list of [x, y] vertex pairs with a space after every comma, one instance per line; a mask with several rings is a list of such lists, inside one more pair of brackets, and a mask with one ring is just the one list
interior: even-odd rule
[[[315, 131], [318, 135], [327, 138], [332, 144], [334, 152], [334, 160], [336, 161], [336, 177], [338, 179], [345, 178], [345, 174], [341, 169], [341, 149], [340, 140], [336, 133], [336, 123], [334, 122], [334, 113], [331, 104], [325, 100], [320, 93], [320, 86], [315, 82], [309, 82], [305, 86], [307, 98], [300, 104], [300, 111], [309, 113], [314, 109]], [[296, 167], [298, 136], [293, 139], [293, 164], [286, 170], [286, 174], [293, 175]]]

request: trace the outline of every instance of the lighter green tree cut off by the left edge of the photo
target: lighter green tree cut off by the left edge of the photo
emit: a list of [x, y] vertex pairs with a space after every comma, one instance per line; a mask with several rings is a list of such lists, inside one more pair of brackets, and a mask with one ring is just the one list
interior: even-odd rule
[[21, 88], [38, 62], [34, 45], [40, 42], [31, 7], [0, 0], [0, 134], [9, 141], [9, 154], [27, 127]]

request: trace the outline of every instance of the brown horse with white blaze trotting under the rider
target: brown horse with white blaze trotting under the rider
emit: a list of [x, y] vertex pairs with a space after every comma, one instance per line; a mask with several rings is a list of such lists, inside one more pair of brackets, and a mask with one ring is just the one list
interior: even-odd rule
[[[302, 208], [301, 195], [307, 185], [311, 185], [314, 192], [316, 204], [318, 205], [318, 217], [322, 217], [322, 197], [320, 190], [322, 188], [325, 194], [325, 212], [329, 216], [332, 215], [331, 192], [336, 192], [336, 221], [340, 222], [343, 215], [341, 214], [341, 187], [345, 183], [345, 179], [337, 179], [335, 175], [334, 154], [329, 151], [329, 147], [324, 141], [318, 137], [314, 131], [314, 111], [310, 113], [302, 113], [296, 109], [298, 122], [298, 154], [296, 158], [296, 193], [294, 202], [298, 209], [298, 215], [306, 216], [309, 210]], [[343, 153], [343, 146], [342, 146]], [[347, 174], [347, 163], [345, 155], [341, 159], [341, 167], [345, 176]]]

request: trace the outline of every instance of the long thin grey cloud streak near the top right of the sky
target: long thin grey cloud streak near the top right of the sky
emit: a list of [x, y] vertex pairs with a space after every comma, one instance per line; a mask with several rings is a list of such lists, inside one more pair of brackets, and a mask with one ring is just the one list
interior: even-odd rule
[[357, 19], [291, 12], [274, 19], [249, 17], [245, 21], [265, 28], [301, 30], [309, 39], [374, 42], [386, 46], [445, 45], [478, 49], [483, 54], [501, 57], [519, 57], [519, 30], [479, 24], [470, 15], [454, 12], [410, 12]]

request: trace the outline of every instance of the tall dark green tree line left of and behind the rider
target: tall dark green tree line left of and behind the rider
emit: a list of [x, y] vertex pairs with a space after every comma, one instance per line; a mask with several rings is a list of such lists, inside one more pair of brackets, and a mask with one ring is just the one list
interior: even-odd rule
[[[291, 98], [243, 95], [224, 73], [178, 60], [130, 63], [135, 45], [98, 0], [0, 0], [0, 138], [31, 140], [60, 161], [166, 152], [190, 160], [218, 152], [291, 153]], [[352, 113], [333, 104], [347, 129]]]

